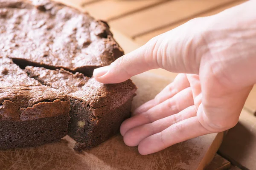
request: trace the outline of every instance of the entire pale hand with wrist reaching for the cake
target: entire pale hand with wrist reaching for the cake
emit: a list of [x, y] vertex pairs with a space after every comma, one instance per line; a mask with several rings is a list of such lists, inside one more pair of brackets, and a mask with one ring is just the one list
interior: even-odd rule
[[122, 123], [125, 144], [146, 155], [237, 124], [256, 83], [255, 7], [256, 0], [250, 0], [193, 19], [94, 71], [102, 83], [154, 68], [180, 73]]

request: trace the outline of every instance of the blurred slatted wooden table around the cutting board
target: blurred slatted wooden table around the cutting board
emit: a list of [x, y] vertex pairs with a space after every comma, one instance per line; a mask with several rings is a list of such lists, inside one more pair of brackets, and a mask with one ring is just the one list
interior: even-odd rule
[[[126, 53], [152, 37], [195, 17], [217, 14], [246, 0], [58, 0], [109, 23], [115, 39]], [[235, 20], [235, 18], [234, 18]], [[162, 69], [151, 72], [175, 78]], [[256, 170], [256, 88], [253, 88], [239, 124], [229, 131], [207, 170]], [[226, 158], [226, 159], [224, 159]], [[230, 164], [230, 161], [232, 165]], [[236, 167], [237, 166], [237, 167]], [[240, 167], [240, 168], [239, 168]]]

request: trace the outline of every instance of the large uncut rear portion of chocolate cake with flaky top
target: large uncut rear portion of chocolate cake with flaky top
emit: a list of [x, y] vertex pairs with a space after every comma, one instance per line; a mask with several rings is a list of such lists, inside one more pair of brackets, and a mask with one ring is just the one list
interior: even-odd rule
[[0, 56], [92, 76], [123, 50], [107, 23], [49, 0], [0, 0]]

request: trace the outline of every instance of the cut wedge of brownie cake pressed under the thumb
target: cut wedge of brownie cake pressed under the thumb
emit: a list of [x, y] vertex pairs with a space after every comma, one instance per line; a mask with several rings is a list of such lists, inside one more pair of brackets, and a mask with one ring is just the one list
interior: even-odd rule
[[28, 66], [29, 77], [64, 91], [70, 98], [68, 135], [78, 142], [75, 149], [95, 147], [119, 131], [130, 116], [137, 87], [129, 79], [119, 84], [102, 84], [83, 74]]

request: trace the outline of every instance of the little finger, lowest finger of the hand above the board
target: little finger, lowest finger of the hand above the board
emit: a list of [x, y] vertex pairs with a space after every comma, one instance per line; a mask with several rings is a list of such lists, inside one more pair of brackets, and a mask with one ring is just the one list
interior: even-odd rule
[[143, 139], [138, 147], [140, 154], [147, 155], [163, 150], [173, 144], [212, 133], [206, 130], [197, 117], [175, 123], [167, 129]]

